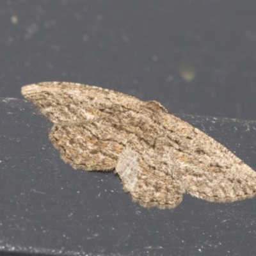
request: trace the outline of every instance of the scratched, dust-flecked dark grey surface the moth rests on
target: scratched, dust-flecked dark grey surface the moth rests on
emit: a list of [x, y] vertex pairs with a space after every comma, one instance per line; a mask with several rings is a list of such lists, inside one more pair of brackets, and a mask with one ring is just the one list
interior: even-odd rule
[[[2, 99], [0, 249], [45, 255], [254, 255], [256, 198], [214, 204], [184, 195], [145, 209], [113, 173], [60, 159], [51, 123], [24, 100]], [[182, 116], [256, 168], [256, 122]]]

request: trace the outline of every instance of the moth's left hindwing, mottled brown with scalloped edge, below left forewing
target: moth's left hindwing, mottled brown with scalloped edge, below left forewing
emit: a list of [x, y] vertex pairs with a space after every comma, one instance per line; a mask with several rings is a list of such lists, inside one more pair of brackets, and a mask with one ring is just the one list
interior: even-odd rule
[[[98, 125], [95, 129], [95, 125]], [[124, 145], [112, 127], [102, 124], [85, 123], [52, 127], [49, 138], [60, 150], [61, 158], [76, 169], [86, 171], [108, 171], [116, 166]], [[122, 140], [121, 140], [122, 141]]]

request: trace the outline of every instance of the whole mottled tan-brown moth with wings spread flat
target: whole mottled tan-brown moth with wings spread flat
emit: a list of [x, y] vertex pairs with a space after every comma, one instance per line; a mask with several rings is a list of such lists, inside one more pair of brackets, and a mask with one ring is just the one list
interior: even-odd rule
[[141, 205], [173, 208], [182, 194], [232, 202], [256, 193], [256, 173], [204, 132], [156, 101], [95, 86], [45, 82], [22, 88], [52, 122], [64, 161], [115, 170]]

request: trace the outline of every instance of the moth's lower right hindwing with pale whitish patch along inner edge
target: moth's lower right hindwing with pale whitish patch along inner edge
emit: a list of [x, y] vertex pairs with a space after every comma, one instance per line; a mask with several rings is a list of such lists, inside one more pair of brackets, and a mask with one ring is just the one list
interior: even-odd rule
[[144, 207], [174, 208], [182, 201], [181, 177], [167, 150], [166, 154], [163, 151], [162, 148], [161, 154], [132, 135], [118, 157], [115, 171], [124, 191], [130, 192], [132, 199]]

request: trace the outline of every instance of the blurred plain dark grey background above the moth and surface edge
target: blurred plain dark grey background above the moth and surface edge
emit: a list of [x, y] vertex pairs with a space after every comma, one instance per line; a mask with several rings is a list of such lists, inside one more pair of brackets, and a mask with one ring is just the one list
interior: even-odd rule
[[254, 0], [1, 1], [0, 96], [72, 81], [173, 113], [255, 119], [255, 13]]

